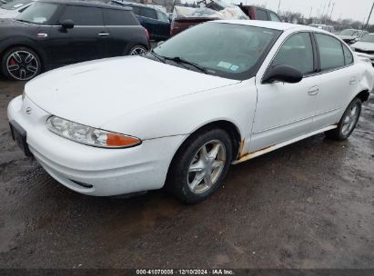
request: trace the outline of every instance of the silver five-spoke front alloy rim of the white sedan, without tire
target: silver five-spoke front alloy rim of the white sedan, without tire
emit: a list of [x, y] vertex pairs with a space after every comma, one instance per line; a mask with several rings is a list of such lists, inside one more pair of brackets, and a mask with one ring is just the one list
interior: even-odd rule
[[187, 173], [189, 190], [197, 194], [207, 192], [216, 184], [225, 163], [225, 145], [218, 140], [205, 143], [189, 165]]

